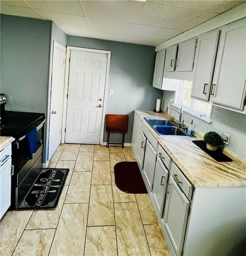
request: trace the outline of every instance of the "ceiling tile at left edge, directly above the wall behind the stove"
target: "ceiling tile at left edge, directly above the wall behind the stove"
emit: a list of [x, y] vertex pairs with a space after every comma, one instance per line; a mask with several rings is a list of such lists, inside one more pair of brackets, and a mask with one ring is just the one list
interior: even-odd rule
[[1, 13], [13, 16], [21, 16], [27, 18], [38, 18], [43, 19], [35, 10], [30, 8], [12, 6], [12, 5], [2, 5], [1, 4]]

